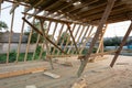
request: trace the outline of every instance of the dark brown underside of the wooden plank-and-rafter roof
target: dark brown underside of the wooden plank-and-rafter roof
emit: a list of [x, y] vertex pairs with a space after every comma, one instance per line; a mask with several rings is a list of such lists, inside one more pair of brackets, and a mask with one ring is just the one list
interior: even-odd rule
[[[36, 15], [42, 11], [47, 11], [50, 18], [65, 19], [78, 22], [89, 22], [97, 24], [102, 16], [108, 0], [3, 0], [13, 2], [11, 12], [18, 4], [26, 6], [25, 12], [33, 8], [38, 9], [33, 14]], [[79, 4], [74, 4], [80, 2]], [[107, 23], [128, 21], [128, 13], [132, 11], [131, 0], [117, 0], [108, 18]], [[58, 16], [58, 18], [57, 18]], [[114, 18], [117, 16], [117, 18]]]

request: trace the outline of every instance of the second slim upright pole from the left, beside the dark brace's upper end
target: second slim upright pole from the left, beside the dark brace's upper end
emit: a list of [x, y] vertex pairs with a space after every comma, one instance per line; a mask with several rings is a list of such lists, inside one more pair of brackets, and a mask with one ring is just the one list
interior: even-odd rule
[[[26, 15], [24, 15], [24, 18], [25, 18]], [[23, 21], [23, 23], [22, 23], [22, 29], [21, 29], [21, 34], [20, 34], [20, 40], [19, 40], [19, 45], [18, 45], [18, 54], [16, 54], [16, 62], [15, 63], [18, 63], [19, 62], [19, 55], [20, 55], [20, 48], [21, 48], [21, 42], [22, 42], [22, 36], [23, 36], [23, 30], [24, 30], [24, 21]]]

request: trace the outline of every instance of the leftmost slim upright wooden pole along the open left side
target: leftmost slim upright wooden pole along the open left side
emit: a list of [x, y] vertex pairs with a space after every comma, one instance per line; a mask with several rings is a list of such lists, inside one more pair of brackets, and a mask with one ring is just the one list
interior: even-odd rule
[[13, 22], [14, 22], [14, 12], [12, 13], [12, 19], [11, 19], [11, 30], [9, 34], [9, 46], [8, 46], [8, 52], [7, 52], [7, 64], [9, 63], [9, 54], [10, 54], [10, 44], [11, 44], [11, 37], [12, 37], [12, 32], [13, 32]]

